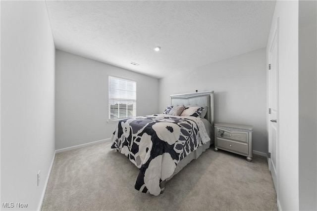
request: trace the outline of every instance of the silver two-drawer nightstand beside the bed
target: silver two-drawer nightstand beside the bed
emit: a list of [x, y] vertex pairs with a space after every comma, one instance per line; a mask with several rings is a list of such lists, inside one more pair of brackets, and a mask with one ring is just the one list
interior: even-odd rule
[[252, 161], [253, 126], [229, 123], [214, 124], [214, 151], [218, 149], [233, 152]]

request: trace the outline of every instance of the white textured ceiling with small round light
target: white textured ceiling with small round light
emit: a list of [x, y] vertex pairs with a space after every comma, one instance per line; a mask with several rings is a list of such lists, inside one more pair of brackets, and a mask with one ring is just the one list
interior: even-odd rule
[[155, 78], [265, 47], [275, 7], [267, 0], [46, 3], [57, 49]]

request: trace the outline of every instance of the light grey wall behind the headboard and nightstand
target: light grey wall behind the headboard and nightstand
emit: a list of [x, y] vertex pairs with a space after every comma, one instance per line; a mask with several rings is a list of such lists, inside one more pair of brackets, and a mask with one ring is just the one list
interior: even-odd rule
[[267, 152], [265, 48], [159, 80], [159, 111], [170, 94], [214, 90], [214, 121], [253, 125], [253, 150]]

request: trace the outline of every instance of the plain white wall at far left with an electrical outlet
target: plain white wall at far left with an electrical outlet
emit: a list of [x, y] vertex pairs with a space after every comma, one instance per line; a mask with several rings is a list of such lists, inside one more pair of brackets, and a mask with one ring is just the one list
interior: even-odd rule
[[41, 205], [54, 156], [54, 56], [45, 1], [1, 1], [0, 203], [28, 204], [3, 210]]

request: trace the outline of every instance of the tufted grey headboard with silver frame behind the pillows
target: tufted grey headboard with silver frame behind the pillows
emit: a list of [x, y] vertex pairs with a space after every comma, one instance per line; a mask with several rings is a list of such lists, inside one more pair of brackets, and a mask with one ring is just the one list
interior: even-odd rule
[[172, 94], [170, 95], [170, 105], [187, 106], [199, 105], [208, 106], [205, 118], [213, 126], [213, 91], [203, 91], [187, 94]]

